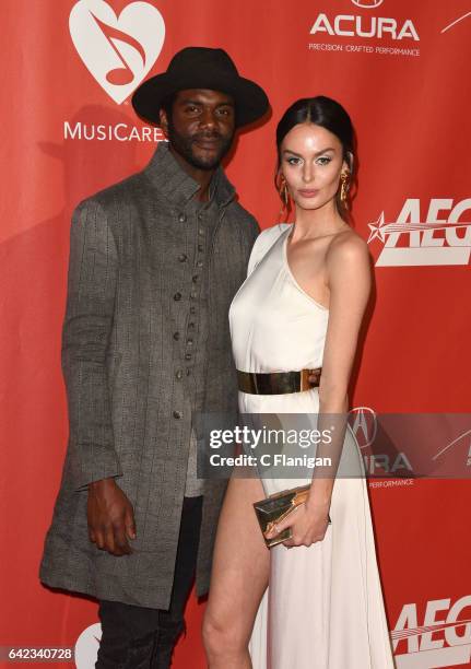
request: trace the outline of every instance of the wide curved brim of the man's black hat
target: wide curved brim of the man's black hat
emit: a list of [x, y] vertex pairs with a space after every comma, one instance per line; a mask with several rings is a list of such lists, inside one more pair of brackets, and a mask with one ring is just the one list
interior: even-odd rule
[[187, 89], [207, 89], [231, 95], [236, 108], [236, 128], [252, 124], [261, 118], [269, 108], [264, 91], [254, 81], [244, 79], [244, 77], [232, 79], [214, 77], [214, 74], [208, 78], [204, 72], [195, 72], [178, 79], [166, 72], [156, 74], [137, 89], [132, 95], [132, 106], [138, 116], [158, 125], [164, 99]]

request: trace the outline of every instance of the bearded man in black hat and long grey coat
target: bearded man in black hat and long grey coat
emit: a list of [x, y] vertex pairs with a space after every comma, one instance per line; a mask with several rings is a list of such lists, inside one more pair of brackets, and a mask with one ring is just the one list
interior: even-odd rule
[[40, 578], [99, 600], [96, 667], [161, 669], [195, 573], [209, 587], [225, 483], [198, 479], [191, 415], [237, 406], [227, 312], [258, 234], [220, 163], [268, 99], [225, 51], [190, 47], [132, 104], [168, 143], [73, 215], [70, 437]]

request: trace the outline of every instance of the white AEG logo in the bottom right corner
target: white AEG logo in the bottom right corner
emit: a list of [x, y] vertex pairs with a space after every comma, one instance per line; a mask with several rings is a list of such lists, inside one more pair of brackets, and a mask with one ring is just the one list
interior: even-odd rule
[[[417, 605], [402, 607], [391, 632], [392, 647], [407, 652], [396, 655], [398, 669], [455, 667], [471, 661], [471, 595], [454, 605], [451, 599], [427, 601], [423, 624], [419, 625]], [[434, 637], [434, 638], [433, 638]]]

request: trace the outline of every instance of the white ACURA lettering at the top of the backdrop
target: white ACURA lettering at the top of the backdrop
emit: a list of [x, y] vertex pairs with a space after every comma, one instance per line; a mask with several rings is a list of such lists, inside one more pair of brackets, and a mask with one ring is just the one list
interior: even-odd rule
[[[382, 0], [352, 0], [353, 4], [362, 9], [375, 9], [382, 3]], [[413, 39], [419, 42], [419, 33], [412, 19], [405, 19], [402, 24], [398, 24], [396, 19], [384, 16], [362, 16], [352, 14], [338, 14], [330, 19], [327, 14], [318, 14], [310, 34], [328, 33], [338, 37], [376, 37], [381, 39]]]

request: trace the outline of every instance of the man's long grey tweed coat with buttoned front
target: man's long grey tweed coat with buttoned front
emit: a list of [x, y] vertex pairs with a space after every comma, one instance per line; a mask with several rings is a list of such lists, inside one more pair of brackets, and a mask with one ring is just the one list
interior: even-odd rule
[[[259, 228], [221, 168], [213, 183], [220, 214], [209, 257], [203, 409], [225, 412], [237, 401], [227, 313]], [[176, 258], [188, 250], [185, 231], [195, 222], [187, 212], [197, 189], [161, 143], [145, 169], [73, 214], [62, 336], [70, 436], [40, 565], [46, 585], [169, 605], [191, 429], [186, 380], [176, 380], [182, 344], [173, 337], [185, 330], [191, 272]], [[106, 477], [117, 477], [134, 507], [131, 555], [116, 558], [89, 540], [86, 485]], [[205, 482], [198, 595], [209, 588], [225, 485]]]

